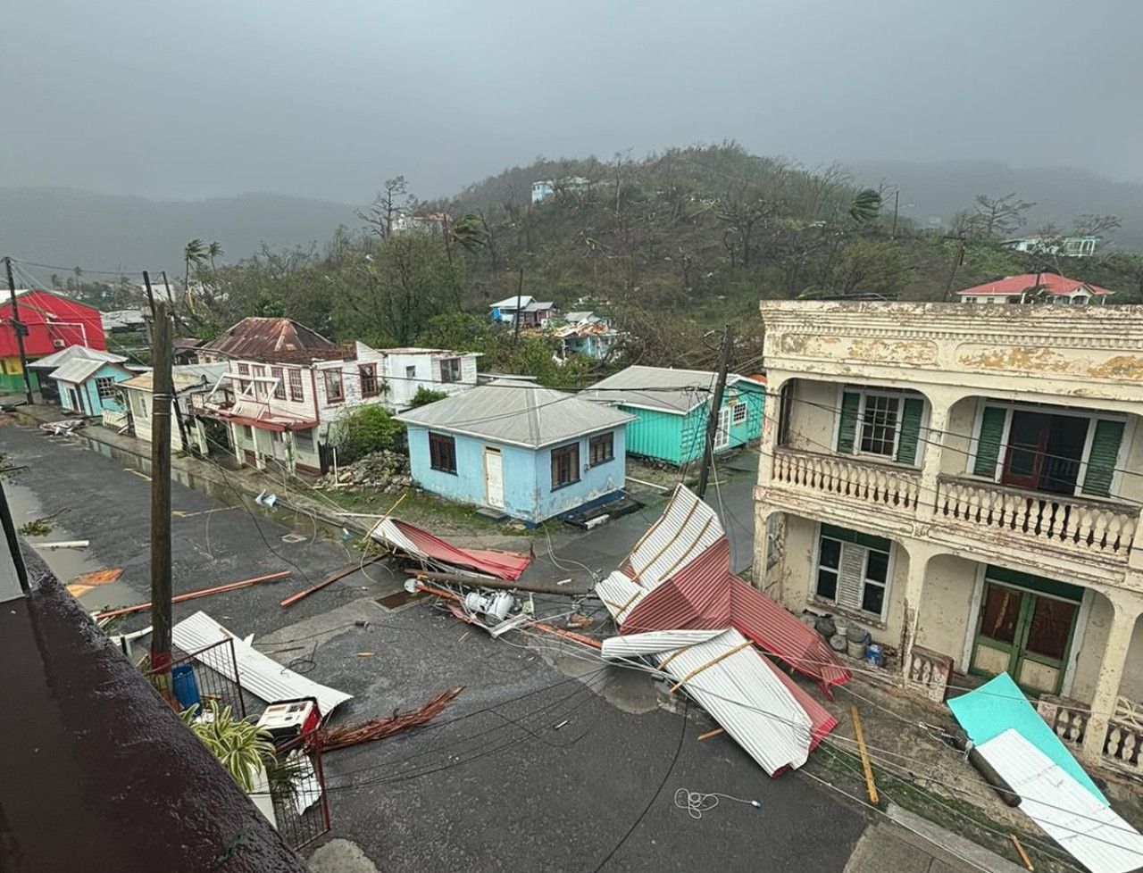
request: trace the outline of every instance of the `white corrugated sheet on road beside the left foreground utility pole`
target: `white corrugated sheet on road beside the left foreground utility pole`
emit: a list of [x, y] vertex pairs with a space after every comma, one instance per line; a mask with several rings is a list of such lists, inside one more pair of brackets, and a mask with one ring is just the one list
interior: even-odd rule
[[[232, 639], [234, 641], [234, 660], [238, 665], [238, 679], [242, 688], [256, 697], [261, 697], [266, 703], [289, 700], [295, 697], [314, 697], [318, 700], [318, 708], [321, 710], [322, 716], [328, 716], [338, 705], [353, 697], [353, 695], [319, 684], [312, 679], [298, 675], [293, 670], [287, 670], [249, 643], [242, 642], [242, 640], [238, 639], [206, 612], [195, 612], [190, 618], [184, 618], [171, 628], [170, 634], [178, 648], [191, 654], [211, 646], [219, 640]], [[217, 650], [211, 650], [205, 652], [201, 657], [195, 657], [208, 667], [234, 681], [234, 676], [231, 675], [230, 665], [223, 662], [221, 652]]]

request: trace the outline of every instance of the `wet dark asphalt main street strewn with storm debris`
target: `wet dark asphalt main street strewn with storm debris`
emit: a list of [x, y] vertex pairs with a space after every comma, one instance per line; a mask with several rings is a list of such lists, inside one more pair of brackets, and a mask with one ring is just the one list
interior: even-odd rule
[[[67, 508], [62, 523], [69, 536], [90, 539], [90, 562], [123, 568], [123, 584], [147, 600], [149, 482], [14, 424], [0, 427], [0, 449], [29, 465], [19, 486], [35, 514]], [[282, 609], [278, 601], [307, 578], [345, 564], [345, 548], [321, 538], [283, 542], [291, 530], [222, 510], [177, 483], [173, 505], [181, 513], [173, 523], [176, 593], [294, 572], [176, 604], [175, 619], [203, 609], [239, 635], [254, 633], [256, 644], [311, 647], [303, 651], [312, 650], [307, 675], [355, 695], [335, 721], [390, 714], [464, 687], [437, 726], [326, 756], [333, 835], [359, 843], [385, 873], [591, 873], [645, 809], [605, 870], [845, 868], [864, 830], [857, 814], [798, 776], [769, 779], [725, 736], [697, 742], [709, 718], [656, 707], [646, 678], [591, 660], [553, 665], [552, 651], [493, 641], [427, 602], [386, 611], [374, 599], [401, 578], [379, 564], [367, 568], [373, 580], [357, 572]], [[128, 628], [145, 623], [139, 616]], [[724, 800], [695, 820], [674, 807], [680, 787], [757, 799], [761, 808]]]

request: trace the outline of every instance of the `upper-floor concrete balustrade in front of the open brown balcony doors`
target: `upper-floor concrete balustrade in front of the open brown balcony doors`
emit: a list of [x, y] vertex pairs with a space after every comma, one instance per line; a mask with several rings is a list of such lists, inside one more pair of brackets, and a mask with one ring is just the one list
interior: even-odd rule
[[974, 536], [1015, 536], [1031, 547], [1065, 548], [1076, 554], [1127, 561], [1138, 524], [1137, 506], [1085, 500], [1005, 488], [978, 480], [942, 476], [935, 520]]

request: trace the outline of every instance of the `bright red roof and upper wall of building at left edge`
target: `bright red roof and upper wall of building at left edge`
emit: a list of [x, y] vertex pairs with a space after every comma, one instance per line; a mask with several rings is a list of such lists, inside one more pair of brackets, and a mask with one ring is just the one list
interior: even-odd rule
[[[29, 358], [42, 358], [70, 345], [101, 352], [107, 349], [103, 317], [93, 306], [41, 290], [21, 291], [16, 305], [19, 320], [27, 326], [24, 351]], [[0, 358], [15, 358], [19, 349], [11, 328], [11, 302], [7, 294], [0, 294]]]

